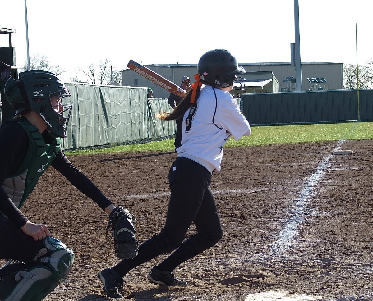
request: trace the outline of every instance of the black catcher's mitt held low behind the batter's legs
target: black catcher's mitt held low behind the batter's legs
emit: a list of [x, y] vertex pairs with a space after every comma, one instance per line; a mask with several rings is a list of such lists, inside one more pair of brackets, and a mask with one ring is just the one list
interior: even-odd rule
[[117, 206], [110, 213], [106, 235], [111, 226], [115, 254], [119, 259], [130, 259], [137, 256], [138, 240], [134, 221], [135, 217], [125, 207]]

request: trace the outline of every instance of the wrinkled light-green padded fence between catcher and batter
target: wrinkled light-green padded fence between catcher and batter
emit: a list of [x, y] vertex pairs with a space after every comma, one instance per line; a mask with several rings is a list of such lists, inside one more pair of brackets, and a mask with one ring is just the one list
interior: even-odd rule
[[167, 99], [147, 99], [146, 88], [66, 84], [73, 105], [62, 139], [64, 150], [104, 148], [121, 144], [146, 143], [175, 134], [175, 121], [155, 117], [170, 112]]

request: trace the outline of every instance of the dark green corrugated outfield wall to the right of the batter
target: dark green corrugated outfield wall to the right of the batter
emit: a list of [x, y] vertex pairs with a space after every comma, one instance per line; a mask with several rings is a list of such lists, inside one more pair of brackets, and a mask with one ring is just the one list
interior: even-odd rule
[[[358, 120], [357, 90], [242, 95], [242, 113], [251, 125]], [[373, 120], [373, 89], [359, 90], [360, 120]]]

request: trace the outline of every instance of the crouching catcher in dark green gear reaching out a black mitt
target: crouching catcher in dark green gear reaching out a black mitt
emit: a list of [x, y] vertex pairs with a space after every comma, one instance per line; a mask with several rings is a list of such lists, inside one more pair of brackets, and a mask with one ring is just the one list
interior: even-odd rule
[[120, 259], [137, 256], [138, 241], [131, 213], [110, 202], [60, 148], [72, 109], [62, 102], [70, 96], [64, 83], [43, 70], [21, 72], [15, 80], [1, 62], [0, 73], [16, 110], [0, 126], [0, 259], [9, 260], [0, 268], [0, 300], [38, 301], [65, 281], [74, 261], [73, 251], [46, 225], [20, 211], [49, 165], [107, 213]]

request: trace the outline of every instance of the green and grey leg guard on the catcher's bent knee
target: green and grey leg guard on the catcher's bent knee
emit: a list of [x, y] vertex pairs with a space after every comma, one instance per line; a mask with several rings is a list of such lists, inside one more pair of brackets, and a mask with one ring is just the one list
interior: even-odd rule
[[8, 262], [0, 269], [0, 300], [40, 301], [65, 281], [74, 253], [53, 237], [44, 238], [45, 247], [35, 262]]

